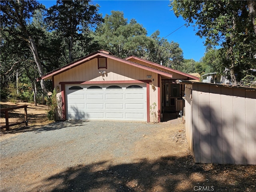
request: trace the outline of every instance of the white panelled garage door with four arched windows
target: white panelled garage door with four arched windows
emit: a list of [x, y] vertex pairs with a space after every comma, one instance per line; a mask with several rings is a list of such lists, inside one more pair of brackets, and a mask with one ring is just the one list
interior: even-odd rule
[[68, 120], [147, 121], [146, 84], [66, 85]]

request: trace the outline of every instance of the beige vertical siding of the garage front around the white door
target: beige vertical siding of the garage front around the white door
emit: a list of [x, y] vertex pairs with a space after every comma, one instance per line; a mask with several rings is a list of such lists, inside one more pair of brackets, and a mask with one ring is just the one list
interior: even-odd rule
[[[106, 70], [106, 74], [102, 77], [99, 71]], [[147, 75], [151, 75], [151, 79], [147, 79]], [[94, 58], [62, 72], [54, 76], [54, 88], [59, 87], [57, 98], [61, 98], [61, 85], [59, 82], [96, 82], [96, 81], [129, 81], [129, 80], [151, 80], [150, 83], [150, 106], [156, 103], [156, 113], [158, 110], [158, 74], [150, 72], [129, 64], [107, 58], [107, 69], [98, 69], [98, 59]], [[156, 90], [152, 89], [154, 84]], [[59, 99], [58, 120], [62, 119], [62, 102]], [[150, 116], [150, 121], [154, 121], [154, 117]]]

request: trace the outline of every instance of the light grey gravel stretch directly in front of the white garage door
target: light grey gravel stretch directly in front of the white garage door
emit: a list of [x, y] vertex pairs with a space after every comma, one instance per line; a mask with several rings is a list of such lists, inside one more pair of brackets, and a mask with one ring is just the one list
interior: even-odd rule
[[113, 151], [120, 156], [133, 142], [140, 140], [156, 128], [156, 124], [140, 122], [68, 121], [55, 122], [48, 126], [26, 131], [1, 142], [1, 158], [12, 157], [40, 148], [56, 148], [56, 152], [72, 150], [77, 154], [98, 155], [110, 150], [108, 145], [116, 144]]

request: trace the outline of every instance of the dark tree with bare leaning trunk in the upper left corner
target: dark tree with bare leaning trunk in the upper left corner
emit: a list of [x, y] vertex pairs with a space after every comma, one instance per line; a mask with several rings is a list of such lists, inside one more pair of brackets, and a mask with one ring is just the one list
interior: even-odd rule
[[[35, 10], [44, 8], [35, 0], [14, 0], [1, 1], [1, 30], [20, 37], [30, 48], [40, 76], [44, 75], [44, 69], [40, 62], [38, 50], [34, 37], [32, 36], [33, 26], [31, 18]], [[44, 80], [40, 81], [42, 90], [47, 93], [48, 89]]]

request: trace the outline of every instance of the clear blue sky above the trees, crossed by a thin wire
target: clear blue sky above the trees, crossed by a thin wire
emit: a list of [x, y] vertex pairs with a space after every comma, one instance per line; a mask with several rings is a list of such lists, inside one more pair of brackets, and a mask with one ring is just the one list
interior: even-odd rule
[[[46, 8], [56, 4], [55, 0], [40, 0], [39, 2]], [[128, 21], [134, 18], [146, 28], [148, 36], [159, 30], [161, 38], [180, 45], [185, 59], [192, 58], [199, 61], [204, 56], [204, 40], [196, 36], [196, 31], [192, 26], [182, 26], [185, 21], [183, 18], [176, 18], [171, 7], [168, 6], [169, 0], [93, 0], [92, 3], [100, 5], [99, 13], [102, 13], [103, 17], [115, 10], [122, 11], [124, 18]]]

